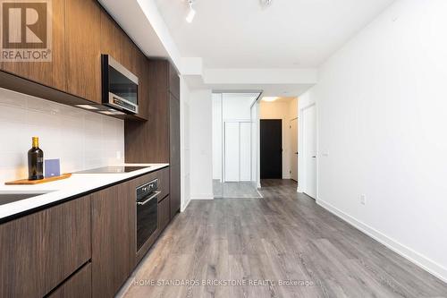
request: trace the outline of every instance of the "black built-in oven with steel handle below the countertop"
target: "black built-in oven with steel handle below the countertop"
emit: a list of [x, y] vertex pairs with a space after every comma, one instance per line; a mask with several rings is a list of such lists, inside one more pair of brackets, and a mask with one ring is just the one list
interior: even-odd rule
[[137, 188], [137, 251], [156, 232], [158, 195], [160, 193], [158, 179]]

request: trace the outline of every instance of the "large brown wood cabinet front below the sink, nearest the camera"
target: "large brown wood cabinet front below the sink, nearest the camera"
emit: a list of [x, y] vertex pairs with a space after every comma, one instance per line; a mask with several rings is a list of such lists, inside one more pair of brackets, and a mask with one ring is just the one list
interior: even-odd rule
[[90, 197], [0, 226], [0, 297], [42, 297], [83, 264], [90, 251]]

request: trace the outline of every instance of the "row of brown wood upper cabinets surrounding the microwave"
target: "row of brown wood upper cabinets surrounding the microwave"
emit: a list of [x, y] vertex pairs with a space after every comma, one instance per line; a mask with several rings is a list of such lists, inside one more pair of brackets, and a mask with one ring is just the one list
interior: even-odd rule
[[[47, 45], [51, 45], [52, 60], [0, 62], [0, 70], [4, 71], [0, 73], [0, 87], [71, 106], [92, 103], [101, 105], [101, 54], [107, 54], [139, 77], [139, 115], [123, 115], [122, 118], [148, 119], [146, 55], [96, 0], [57, 0], [51, 4], [52, 12], [48, 13], [48, 21], [52, 30], [47, 30], [47, 37], [52, 41]], [[26, 5], [34, 4], [19, 0], [14, 3], [12, 0], [11, 3], [8, 1], [8, 5], [24, 11]], [[38, 32], [36, 28], [32, 27], [32, 30]], [[21, 35], [25, 35], [21, 31], [16, 30], [18, 33], [8, 40], [17, 43], [23, 38]], [[26, 38], [29, 36], [26, 35]], [[33, 44], [33, 47], [36, 45]], [[25, 50], [22, 49], [21, 53]]]

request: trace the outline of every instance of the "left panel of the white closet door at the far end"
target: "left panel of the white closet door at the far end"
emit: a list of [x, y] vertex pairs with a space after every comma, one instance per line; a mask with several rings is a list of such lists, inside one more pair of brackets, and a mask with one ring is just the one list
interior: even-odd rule
[[225, 182], [240, 181], [239, 123], [225, 123]]

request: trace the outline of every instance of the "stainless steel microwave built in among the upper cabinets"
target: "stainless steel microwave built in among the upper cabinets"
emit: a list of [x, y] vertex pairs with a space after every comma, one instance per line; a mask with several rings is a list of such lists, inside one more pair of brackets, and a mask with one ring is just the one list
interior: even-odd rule
[[101, 55], [103, 104], [126, 113], [139, 112], [139, 78], [110, 55]]

